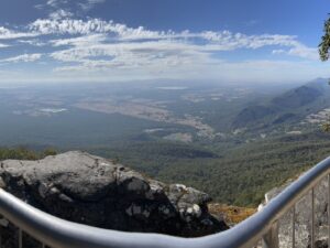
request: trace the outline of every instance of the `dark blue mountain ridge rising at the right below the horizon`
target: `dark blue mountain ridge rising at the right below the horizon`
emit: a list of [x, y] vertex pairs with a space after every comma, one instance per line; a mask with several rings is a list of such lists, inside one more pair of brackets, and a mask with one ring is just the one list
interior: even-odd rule
[[327, 107], [330, 107], [330, 86], [327, 79], [319, 78], [262, 104], [245, 107], [233, 119], [232, 129], [276, 128], [300, 121]]

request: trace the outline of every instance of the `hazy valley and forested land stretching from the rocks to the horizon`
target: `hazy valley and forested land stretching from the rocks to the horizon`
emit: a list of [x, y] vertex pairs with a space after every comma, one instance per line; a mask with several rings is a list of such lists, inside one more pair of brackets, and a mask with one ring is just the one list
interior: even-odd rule
[[180, 80], [12, 86], [0, 96], [2, 147], [89, 151], [228, 204], [257, 204], [330, 149], [321, 130], [330, 88], [321, 78], [266, 87]]

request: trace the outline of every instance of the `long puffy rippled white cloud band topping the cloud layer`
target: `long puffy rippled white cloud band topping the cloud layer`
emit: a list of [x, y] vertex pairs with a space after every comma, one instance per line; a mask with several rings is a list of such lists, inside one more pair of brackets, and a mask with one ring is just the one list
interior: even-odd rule
[[[262, 34], [262, 35], [245, 35], [242, 33], [232, 33], [230, 31], [213, 32], [204, 31], [200, 33], [183, 31], [151, 31], [143, 26], [129, 28], [124, 24], [114, 23], [112, 21], [102, 21], [100, 19], [82, 20], [47, 20], [38, 19], [29, 25], [31, 32], [57, 35], [82, 35], [80, 39], [86, 39], [85, 35], [105, 34], [111, 42], [148, 42], [154, 41], [175, 41], [180, 44], [197, 44], [199, 50], [215, 51], [233, 51], [239, 48], [261, 48], [264, 46], [286, 46], [293, 51], [292, 55], [315, 58], [312, 48], [305, 46], [297, 41], [294, 35], [279, 34]], [[63, 43], [68, 40], [63, 40]], [[55, 43], [54, 43], [55, 44]], [[57, 40], [58, 44], [58, 40]], [[305, 52], [302, 52], [302, 48]], [[308, 55], [307, 55], [308, 51]]]

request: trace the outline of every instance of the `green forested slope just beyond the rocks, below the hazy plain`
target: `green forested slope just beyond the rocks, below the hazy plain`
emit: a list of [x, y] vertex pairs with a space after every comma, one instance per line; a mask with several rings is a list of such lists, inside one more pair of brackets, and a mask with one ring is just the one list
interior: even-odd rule
[[216, 202], [257, 206], [264, 193], [330, 154], [330, 134], [321, 131], [241, 144], [223, 153], [184, 144], [143, 142], [90, 149], [165, 182], [208, 192]]

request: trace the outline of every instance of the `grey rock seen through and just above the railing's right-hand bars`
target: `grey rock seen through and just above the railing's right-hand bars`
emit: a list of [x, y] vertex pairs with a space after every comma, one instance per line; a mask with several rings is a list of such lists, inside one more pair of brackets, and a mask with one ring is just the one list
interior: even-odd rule
[[[289, 183], [286, 185], [274, 188], [265, 194], [265, 203], [267, 204], [272, 198], [278, 195]], [[328, 179], [320, 182], [315, 187], [315, 234], [316, 234], [316, 248], [328, 247]], [[293, 212], [288, 212], [279, 220], [279, 247], [289, 248], [292, 245], [293, 234]], [[296, 247], [308, 248], [311, 240], [311, 193], [304, 196], [296, 204]]]

